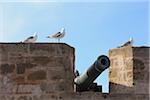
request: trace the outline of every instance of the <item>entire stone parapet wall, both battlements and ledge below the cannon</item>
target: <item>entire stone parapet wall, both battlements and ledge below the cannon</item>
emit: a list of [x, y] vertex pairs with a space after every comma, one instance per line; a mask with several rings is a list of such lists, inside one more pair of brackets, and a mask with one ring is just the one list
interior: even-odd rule
[[110, 93], [74, 92], [75, 49], [0, 43], [0, 100], [149, 100], [149, 48], [109, 51]]

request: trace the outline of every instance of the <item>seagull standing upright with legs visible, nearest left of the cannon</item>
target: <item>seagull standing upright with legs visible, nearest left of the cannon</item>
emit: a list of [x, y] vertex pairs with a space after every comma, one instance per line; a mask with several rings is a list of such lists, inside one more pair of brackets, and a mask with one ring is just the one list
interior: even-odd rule
[[55, 38], [55, 39], [58, 39], [58, 42], [60, 41], [61, 38], [63, 38], [65, 36], [65, 28], [61, 28], [61, 31], [51, 35], [51, 36], [48, 36], [47, 38]]

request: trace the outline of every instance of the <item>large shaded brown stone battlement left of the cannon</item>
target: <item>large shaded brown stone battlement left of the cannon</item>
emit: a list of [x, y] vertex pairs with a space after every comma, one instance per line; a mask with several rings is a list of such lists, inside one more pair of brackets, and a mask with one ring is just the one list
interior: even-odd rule
[[74, 48], [67, 44], [1, 43], [0, 95], [73, 92], [74, 59]]

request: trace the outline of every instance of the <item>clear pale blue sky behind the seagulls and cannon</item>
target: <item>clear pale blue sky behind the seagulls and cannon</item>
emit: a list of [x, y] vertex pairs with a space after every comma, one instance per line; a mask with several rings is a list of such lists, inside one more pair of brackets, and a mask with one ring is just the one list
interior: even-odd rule
[[[99, 55], [108, 55], [130, 37], [135, 46], [149, 46], [147, 0], [2, 0], [0, 42], [19, 42], [38, 32], [37, 42], [65, 27], [61, 42], [75, 47], [76, 69], [83, 73]], [[108, 91], [108, 69], [97, 79]]]

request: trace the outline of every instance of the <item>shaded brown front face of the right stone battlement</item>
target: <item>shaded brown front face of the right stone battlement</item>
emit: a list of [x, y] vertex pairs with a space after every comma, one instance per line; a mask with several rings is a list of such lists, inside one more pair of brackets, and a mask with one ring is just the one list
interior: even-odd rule
[[149, 52], [148, 47], [133, 47], [133, 80], [135, 94], [149, 93]]

